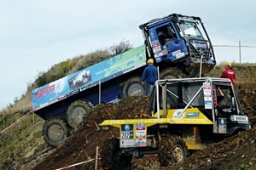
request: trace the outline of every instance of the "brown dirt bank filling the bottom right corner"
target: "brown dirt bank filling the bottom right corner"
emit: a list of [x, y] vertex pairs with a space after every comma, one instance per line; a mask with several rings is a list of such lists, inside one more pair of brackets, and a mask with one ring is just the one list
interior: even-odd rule
[[189, 156], [181, 167], [160, 169], [256, 169], [256, 126], [229, 139], [209, 144]]

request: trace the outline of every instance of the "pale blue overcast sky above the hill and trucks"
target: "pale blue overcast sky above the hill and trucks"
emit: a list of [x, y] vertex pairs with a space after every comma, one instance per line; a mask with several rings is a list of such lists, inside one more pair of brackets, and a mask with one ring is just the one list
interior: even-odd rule
[[[140, 24], [172, 13], [200, 16], [213, 45], [238, 46], [256, 62], [252, 0], [0, 0], [0, 110], [26, 92], [39, 71], [108, 48], [143, 44]], [[214, 48], [217, 62], [240, 61], [239, 48]]]

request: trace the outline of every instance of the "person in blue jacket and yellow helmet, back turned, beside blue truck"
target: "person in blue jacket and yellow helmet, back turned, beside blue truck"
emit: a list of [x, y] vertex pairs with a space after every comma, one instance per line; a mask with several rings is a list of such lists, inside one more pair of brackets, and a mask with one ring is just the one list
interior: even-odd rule
[[148, 66], [143, 71], [143, 86], [145, 86], [146, 82], [146, 94], [150, 94], [151, 86], [157, 80], [157, 68], [153, 63], [153, 59], [148, 59]]

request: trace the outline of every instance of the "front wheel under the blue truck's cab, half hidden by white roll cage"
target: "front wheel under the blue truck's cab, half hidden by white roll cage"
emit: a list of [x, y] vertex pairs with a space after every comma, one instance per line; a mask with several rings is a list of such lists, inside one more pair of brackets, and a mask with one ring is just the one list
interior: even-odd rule
[[160, 72], [160, 79], [177, 79], [185, 77], [187, 76], [177, 67], [169, 67]]

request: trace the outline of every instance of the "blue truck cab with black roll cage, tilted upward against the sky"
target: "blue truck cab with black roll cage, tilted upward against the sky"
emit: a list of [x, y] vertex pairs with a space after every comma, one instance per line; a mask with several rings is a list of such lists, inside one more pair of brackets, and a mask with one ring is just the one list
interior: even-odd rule
[[199, 77], [216, 65], [212, 42], [200, 17], [170, 14], [139, 28], [148, 56], [155, 63], [166, 61], [168, 65], [177, 65], [187, 77]]

